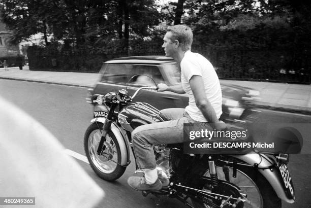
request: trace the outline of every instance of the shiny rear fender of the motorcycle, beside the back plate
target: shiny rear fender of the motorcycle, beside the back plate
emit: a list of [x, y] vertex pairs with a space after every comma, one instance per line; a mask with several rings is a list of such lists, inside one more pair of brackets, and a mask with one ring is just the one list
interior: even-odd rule
[[267, 179], [277, 196], [288, 203], [295, 202], [295, 196], [292, 196], [286, 191], [279, 169], [275, 165], [273, 165], [272, 168], [266, 168], [271, 166], [271, 160], [268, 157], [263, 154], [257, 154], [255, 152], [244, 155], [230, 156], [242, 160], [248, 164], [258, 164], [258, 171]]

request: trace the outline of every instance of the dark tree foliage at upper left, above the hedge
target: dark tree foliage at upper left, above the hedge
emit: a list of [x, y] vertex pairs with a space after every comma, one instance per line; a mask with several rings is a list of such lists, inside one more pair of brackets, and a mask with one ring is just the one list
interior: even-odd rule
[[[130, 34], [148, 36], [159, 24], [153, 0], [2, 0], [1, 17], [16, 44], [41, 32], [76, 47], [118, 38], [128, 48]], [[46, 40], [47, 41], [47, 40]], [[48, 43], [47, 43], [48, 44]]]

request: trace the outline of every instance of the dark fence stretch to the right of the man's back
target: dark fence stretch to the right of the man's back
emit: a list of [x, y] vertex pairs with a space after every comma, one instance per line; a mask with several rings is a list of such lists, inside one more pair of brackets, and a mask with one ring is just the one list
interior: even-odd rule
[[284, 49], [194, 48], [214, 65], [220, 78], [311, 83], [311, 53]]

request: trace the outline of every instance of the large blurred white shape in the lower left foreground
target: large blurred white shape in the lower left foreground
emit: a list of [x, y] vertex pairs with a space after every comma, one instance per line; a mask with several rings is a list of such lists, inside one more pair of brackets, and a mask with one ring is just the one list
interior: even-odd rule
[[36, 197], [25, 208], [89, 208], [104, 191], [46, 128], [0, 97], [0, 196]]

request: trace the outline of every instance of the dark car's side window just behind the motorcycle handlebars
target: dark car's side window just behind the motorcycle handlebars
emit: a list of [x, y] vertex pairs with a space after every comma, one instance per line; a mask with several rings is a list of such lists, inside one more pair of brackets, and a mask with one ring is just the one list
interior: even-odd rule
[[105, 68], [105, 70], [102, 81], [127, 83], [134, 75], [140, 75], [132, 79], [131, 83], [153, 86], [154, 82], [156, 84], [164, 82], [159, 65], [107, 64], [106, 66], [103, 66], [103, 68]]

